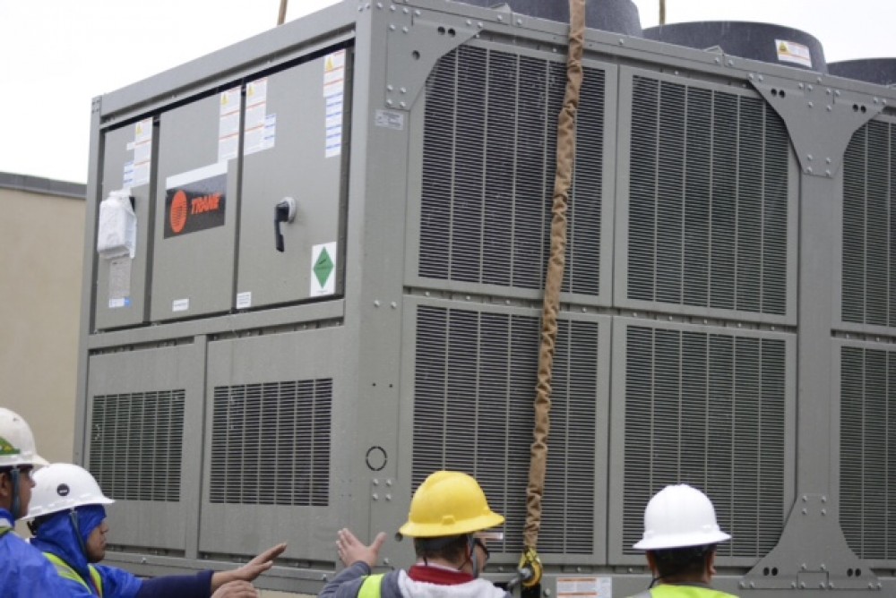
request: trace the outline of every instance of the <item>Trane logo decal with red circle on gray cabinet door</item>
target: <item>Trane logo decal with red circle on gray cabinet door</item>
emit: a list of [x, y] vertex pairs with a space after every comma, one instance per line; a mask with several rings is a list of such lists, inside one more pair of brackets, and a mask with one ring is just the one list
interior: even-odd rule
[[165, 185], [165, 238], [224, 226], [227, 212], [227, 162], [182, 175]]

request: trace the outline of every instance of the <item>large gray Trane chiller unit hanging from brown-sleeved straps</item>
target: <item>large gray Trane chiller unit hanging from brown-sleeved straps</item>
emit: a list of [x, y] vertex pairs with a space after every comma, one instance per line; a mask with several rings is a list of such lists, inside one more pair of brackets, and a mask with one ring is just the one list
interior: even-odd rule
[[[567, 30], [346, 0], [97, 98], [76, 458], [112, 561], [288, 540], [260, 585], [316, 592], [340, 526], [394, 532], [454, 468], [513, 575]], [[719, 588], [896, 593], [896, 93], [601, 30], [583, 67], [545, 595], [646, 588], [679, 481], [733, 535]]]

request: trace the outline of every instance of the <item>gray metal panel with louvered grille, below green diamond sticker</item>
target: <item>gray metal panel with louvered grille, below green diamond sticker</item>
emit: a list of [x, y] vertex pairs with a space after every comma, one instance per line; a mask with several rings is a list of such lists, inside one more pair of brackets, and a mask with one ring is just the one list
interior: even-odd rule
[[[342, 329], [210, 343], [200, 550], [332, 562], [351, 409]], [[341, 459], [341, 460], [340, 460]], [[327, 565], [327, 568], [332, 565]]]

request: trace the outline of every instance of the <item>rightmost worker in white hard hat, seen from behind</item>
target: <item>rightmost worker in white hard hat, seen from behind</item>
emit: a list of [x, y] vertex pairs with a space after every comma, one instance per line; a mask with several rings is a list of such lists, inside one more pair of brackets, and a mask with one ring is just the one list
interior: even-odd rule
[[644, 509], [644, 536], [633, 545], [647, 553], [653, 581], [633, 598], [736, 598], [710, 586], [716, 544], [730, 539], [702, 491], [679, 484], [657, 492]]

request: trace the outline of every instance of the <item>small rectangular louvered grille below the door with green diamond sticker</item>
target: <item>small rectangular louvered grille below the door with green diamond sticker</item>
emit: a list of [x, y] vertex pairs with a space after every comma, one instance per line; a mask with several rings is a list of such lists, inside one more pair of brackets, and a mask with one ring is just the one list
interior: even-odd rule
[[215, 387], [212, 503], [330, 503], [332, 379]]

